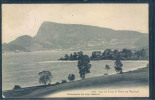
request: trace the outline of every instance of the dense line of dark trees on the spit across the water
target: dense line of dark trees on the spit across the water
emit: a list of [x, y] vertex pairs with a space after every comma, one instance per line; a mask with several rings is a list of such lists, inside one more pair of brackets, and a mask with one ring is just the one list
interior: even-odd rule
[[[74, 52], [71, 53], [70, 56], [66, 54], [64, 57], [60, 58], [59, 60], [79, 60], [80, 57], [83, 55], [83, 52]], [[111, 50], [106, 49], [103, 53], [101, 51], [94, 51], [90, 56], [90, 60], [147, 60], [149, 59], [149, 55], [146, 49], [140, 50]]]

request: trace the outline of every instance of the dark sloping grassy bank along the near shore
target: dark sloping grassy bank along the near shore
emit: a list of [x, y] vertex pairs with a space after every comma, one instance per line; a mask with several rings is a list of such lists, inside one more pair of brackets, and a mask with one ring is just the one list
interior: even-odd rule
[[[123, 74], [113, 74], [106, 76], [99, 76], [93, 78], [86, 78], [83, 80], [58, 84], [58, 85], [41, 85], [34, 87], [21, 88], [18, 90], [4, 91], [3, 95], [6, 98], [35, 98], [44, 95], [56, 93], [63, 90], [76, 88], [91, 88], [97, 86], [106, 86], [111, 84], [117, 87], [117, 83], [126, 82], [128, 87], [136, 85], [148, 85], [148, 67], [140, 68], [134, 71], [125, 72]], [[122, 84], [123, 85], [123, 84]]]

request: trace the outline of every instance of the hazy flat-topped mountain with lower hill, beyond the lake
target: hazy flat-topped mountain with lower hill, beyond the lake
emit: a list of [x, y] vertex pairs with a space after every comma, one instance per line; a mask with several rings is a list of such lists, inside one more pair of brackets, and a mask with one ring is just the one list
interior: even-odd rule
[[34, 37], [20, 36], [3, 44], [4, 51], [102, 50], [148, 46], [148, 34], [90, 25], [43, 22]]

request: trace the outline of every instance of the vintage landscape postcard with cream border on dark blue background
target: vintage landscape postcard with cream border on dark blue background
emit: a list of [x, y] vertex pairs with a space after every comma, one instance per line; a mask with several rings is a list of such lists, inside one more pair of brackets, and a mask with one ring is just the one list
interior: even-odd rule
[[3, 98], [149, 97], [148, 4], [2, 4]]

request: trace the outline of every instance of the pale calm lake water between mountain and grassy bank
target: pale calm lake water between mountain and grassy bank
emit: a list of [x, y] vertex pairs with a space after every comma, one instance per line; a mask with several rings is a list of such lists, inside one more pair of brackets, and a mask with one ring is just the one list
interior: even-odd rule
[[[80, 79], [77, 68], [77, 61], [58, 61], [66, 53], [70, 55], [74, 51], [38, 51], [27, 53], [2, 54], [2, 89], [12, 89], [14, 85], [29, 87], [39, 85], [38, 73], [48, 70], [52, 73], [52, 83], [68, 81], [69, 74], [75, 74], [75, 80]], [[92, 51], [84, 51], [84, 54], [91, 55]], [[91, 69], [86, 78], [102, 76], [106, 73], [105, 65], [110, 65], [109, 74], [115, 74], [112, 60], [91, 61]], [[123, 71], [135, 70], [145, 67], [148, 61], [122, 61]]]

